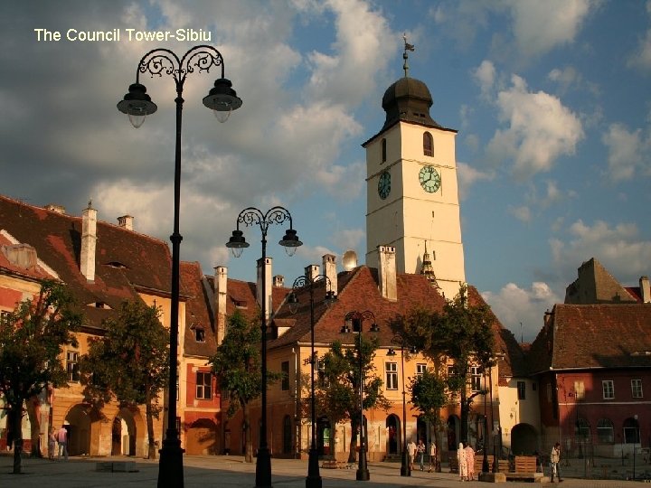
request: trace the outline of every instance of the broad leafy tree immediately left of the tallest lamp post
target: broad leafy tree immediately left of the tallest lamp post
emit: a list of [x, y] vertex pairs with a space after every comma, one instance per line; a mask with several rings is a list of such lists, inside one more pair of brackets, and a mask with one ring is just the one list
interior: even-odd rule
[[156, 306], [123, 302], [117, 318], [104, 321], [104, 335], [91, 339], [80, 358], [84, 393], [95, 406], [112, 396], [123, 405], [145, 405], [149, 459], [156, 458], [154, 418], [169, 375], [169, 331], [158, 315]]

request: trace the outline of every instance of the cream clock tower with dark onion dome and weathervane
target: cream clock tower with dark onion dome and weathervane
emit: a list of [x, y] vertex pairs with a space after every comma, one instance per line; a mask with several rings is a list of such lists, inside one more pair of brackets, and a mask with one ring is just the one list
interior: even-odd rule
[[396, 270], [421, 272], [429, 249], [440, 291], [451, 299], [466, 282], [458, 203], [454, 129], [429, 116], [425, 83], [405, 76], [384, 92], [386, 119], [366, 149], [366, 264], [378, 266], [378, 246], [396, 249]]

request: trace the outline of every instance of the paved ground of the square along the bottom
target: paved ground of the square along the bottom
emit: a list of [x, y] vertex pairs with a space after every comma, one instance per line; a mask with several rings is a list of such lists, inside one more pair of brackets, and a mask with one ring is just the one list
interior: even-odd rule
[[[135, 473], [108, 473], [97, 470], [99, 463], [107, 462], [134, 462], [137, 469]], [[50, 461], [47, 459], [24, 458], [23, 474], [11, 474], [13, 459], [11, 455], [0, 455], [0, 487], [19, 486], [21, 488], [50, 486], [63, 486], [66, 488], [95, 488], [115, 487], [128, 488], [131, 486], [156, 486], [158, 477], [158, 462], [146, 459], [128, 457], [71, 457], [69, 461]], [[595, 468], [589, 468], [584, 462], [572, 462], [570, 466], [563, 466], [562, 472], [565, 487], [613, 487], [638, 486], [639, 482], [626, 481], [632, 475], [632, 466], [621, 466], [610, 461]], [[307, 460], [272, 459], [272, 483], [275, 488], [303, 488], [307, 474]], [[604, 473], [610, 479], [584, 479], [583, 476], [601, 475]], [[447, 487], [465, 486], [473, 488], [488, 483], [465, 482], [460, 483], [457, 474], [448, 473], [445, 468], [443, 473], [427, 473], [414, 471], [410, 477], [400, 475], [398, 463], [370, 463], [369, 471], [371, 480], [358, 482], [355, 480], [354, 469], [325, 469], [321, 468], [324, 488], [363, 486], [373, 488], [410, 486], [420, 487]], [[637, 466], [637, 476], [651, 471], [650, 465]], [[613, 479], [613, 478], [619, 479]], [[531, 487], [532, 483], [507, 482], [500, 483], [507, 488]], [[543, 483], [550, 487], [551, 483]], [[241, 456], [185, 456], [184, 457], [184, 486], [186, 488], [205, 488], [210, 486], [247, 486], [255, 485], [255, 464], [246, 464]]]

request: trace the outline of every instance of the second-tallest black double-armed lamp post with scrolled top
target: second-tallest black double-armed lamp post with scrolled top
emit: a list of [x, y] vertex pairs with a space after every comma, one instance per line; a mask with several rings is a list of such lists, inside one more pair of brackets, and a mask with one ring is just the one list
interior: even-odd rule
[[250, 225], [259, 225], [262, 232], [262, 258], [260, 266], [262, 267], [262, 304], [260, 329], [262, 337], [260, 339], [260, 351], [262, 360], [262, 383], [260, 391], [262, 395], [261, 402], [261, 423], [260, 423], [260, 441], [258, 448], [258, 459], [256, 461], [256, 488], [267, 488], [271, 486], [271, 454], [267, 445], [267, 230], [271, 224], [281, 224], [289, 221], [289, 229], [285, 236], [278, 242], [285, 248], [289, 256], [293, 256], [298, 246], [303, 243], [298, 240], [297, 231], [292, 227], [292, 218], [289, 211], [284, 207], [272, 207], [266, 213], [262, 213], [255, 207], [248, 207], [240, 212], [237, 218], [236, 230], [232, 231], [231, 239], [226, 243], [226, 247], [231, 249], [233, 256], [239, 258], [242, 251], [249, 247], [249, 243], [244, 239], [244, 233], [240, 230], [240, 224], [247, 227]]

